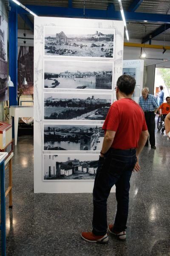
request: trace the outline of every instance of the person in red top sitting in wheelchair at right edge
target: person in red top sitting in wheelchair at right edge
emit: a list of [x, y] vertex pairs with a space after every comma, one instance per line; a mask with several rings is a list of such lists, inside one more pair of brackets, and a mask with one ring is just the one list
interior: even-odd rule
[[158, 130], [164, 132], [164, 119], [167, 116], [167, 114], [170, 113], [170, 97], [166, 97], [166, 102], [162, 103], [159, 107], [159, 118], [157, 122], [157, 128]]

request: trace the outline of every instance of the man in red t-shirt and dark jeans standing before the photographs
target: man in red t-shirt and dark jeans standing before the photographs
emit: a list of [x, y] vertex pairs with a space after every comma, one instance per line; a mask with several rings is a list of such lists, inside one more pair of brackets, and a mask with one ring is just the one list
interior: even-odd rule
[[93, 190], [93, 230], [82, 232], [85, 241], [107, 244], [107, 199], [116, 185], [117, 212], [110, 233], [126, 239], [130, 177], [140, 170], [138, 158], [148, 131], [142, 108], [131, 98], [136, 81], [132, 76], [120, 76], [116, 84], [117, 101], [111, 105], [103, 129], [105, 137], [100, 151]]

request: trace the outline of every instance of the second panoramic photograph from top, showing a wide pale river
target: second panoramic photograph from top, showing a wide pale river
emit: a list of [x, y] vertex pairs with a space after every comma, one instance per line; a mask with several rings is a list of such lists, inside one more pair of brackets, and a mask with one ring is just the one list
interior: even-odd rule
[[44, 61], [44, 88], [112, 90], [111, 61]]

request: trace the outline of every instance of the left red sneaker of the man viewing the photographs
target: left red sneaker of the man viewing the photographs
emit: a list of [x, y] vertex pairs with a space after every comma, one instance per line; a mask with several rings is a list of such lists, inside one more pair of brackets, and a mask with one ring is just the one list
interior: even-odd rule
[[95, 236], [93, 232], [82, 232], [81, 237], [90, 243], [108, 244], [109, 241], [107, 233], [104, 236]]

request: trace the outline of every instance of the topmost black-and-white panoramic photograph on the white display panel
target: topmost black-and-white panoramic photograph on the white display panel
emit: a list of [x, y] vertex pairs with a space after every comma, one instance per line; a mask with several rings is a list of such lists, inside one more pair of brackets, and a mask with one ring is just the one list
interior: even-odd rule
[[113, 58], [114, 30], [45, 27], [44, 50], [45, 55]]

